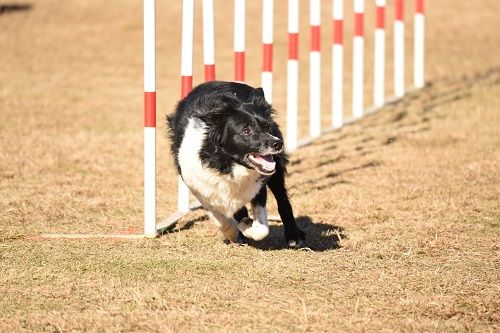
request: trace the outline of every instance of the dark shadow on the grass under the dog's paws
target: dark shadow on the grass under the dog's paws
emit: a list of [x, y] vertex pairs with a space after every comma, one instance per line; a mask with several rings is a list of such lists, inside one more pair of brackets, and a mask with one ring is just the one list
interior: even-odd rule
[[[344, 228], [327, 224], [314, 223], [309, 216], [296, 218], [297, 225], [306, 233], [305, 248], [322, 252], [339, 249], [342, 239], [346, 238]], [[250, 240], [248, 245], [261, 250], [284, 250], [288, 246], [285, 241], [285, 230], [281, 222], [269, 225], [269, 235], [261, 241]]]

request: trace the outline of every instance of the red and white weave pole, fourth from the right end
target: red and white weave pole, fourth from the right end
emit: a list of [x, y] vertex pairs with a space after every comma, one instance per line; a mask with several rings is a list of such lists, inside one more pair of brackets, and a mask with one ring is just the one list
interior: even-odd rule
[[352, 60], [352, 116], [363, 116], [364, 108], [364, 11], [365, 1], [354, 0], [354, 41]]

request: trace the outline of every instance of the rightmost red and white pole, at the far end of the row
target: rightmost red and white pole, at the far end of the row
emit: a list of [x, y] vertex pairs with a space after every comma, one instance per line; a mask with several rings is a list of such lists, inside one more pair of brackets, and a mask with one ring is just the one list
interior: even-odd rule
[[425, 84], [425, 15], [424, 0], [417, 0], [415, 11], [415, 35], [414, 35], [414, 65], [413, 81], [416, 88], [422, 88]]

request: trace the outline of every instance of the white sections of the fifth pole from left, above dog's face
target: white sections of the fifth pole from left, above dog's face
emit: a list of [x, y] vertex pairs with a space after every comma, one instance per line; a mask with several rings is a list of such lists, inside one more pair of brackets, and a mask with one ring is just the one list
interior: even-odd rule
[[[273, 44], [273, 16], [274, 16], [274, 0], [262, 0], [262, 44]], [[266, 59], [263, 59], [264, 63]], [[271, 57], [272, 61], [272, 57]], [[273, 72], [267, 71], [265, 68], [262, 71], [261, 77], [262, 89], [264, 96], [269, 104], [273, 102]]]

